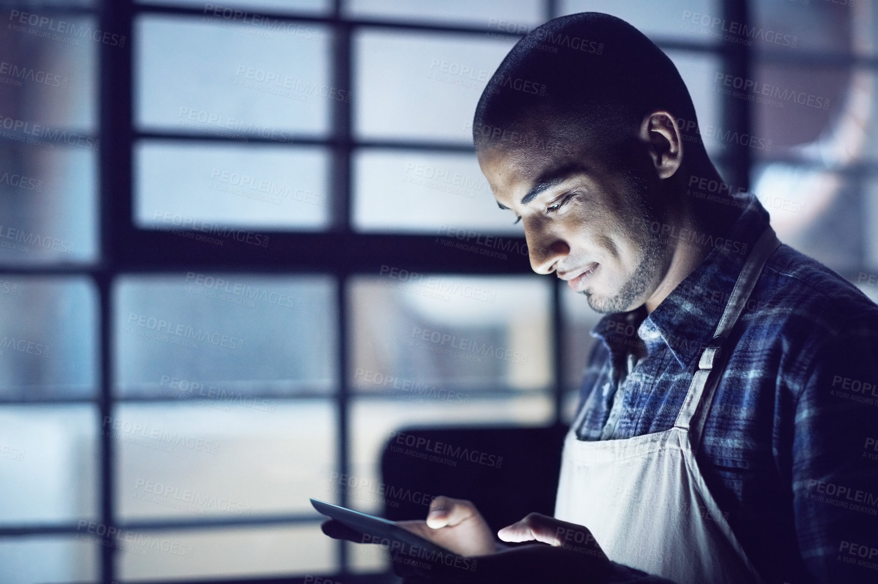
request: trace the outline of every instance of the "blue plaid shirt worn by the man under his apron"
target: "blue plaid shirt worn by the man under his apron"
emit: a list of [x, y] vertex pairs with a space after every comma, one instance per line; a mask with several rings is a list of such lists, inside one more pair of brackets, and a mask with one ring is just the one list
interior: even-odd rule
[[[580, 440], [673, 427], [700, 350], [768, 223], [752, 195], [728, 240], [661, 304], [593, 329]], [[646, 357], [631, 348], [642, 343]], [[878, 582], [878, 306], [786, 245], [730, 335], [698, 466], [768, 583]], [[625, 566], [614, 581], [665, 582]], [[707, 584], [707, 583], [705, 583]]]

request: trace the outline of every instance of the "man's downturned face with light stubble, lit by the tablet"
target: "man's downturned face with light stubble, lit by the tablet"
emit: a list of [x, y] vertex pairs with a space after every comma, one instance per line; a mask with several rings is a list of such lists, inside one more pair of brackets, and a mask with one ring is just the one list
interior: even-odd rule
[[659, 181], [649, 169], [499, 148], [480, 151], [479, 165], [500, 207], [521, 217], [534, 271], [555, 272], [595, 311], [641, 306], [664, 278], [670, 249], [650, 229]]

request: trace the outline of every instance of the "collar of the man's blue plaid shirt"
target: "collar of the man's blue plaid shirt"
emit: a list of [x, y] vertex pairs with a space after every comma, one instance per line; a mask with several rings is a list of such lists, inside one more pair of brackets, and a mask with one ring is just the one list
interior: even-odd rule
[[[742, 208], [726, 236], [686, 230], [671, 234], [693, 245], [712, 247], [702, 263], [648, 316], [644, 306], [626, 313], [608, 314], [592, 329], [592, 336], [601, 339], [614, 352], [627, 352], [626, 345], [630, 347], [632, 342], [637, 342], [637, 337], [649, 354], [665, 344], [682, 367], [698, 356], [713, 338], [750, 249], [768, 226], [768, 213], [752, 193], [737, 193], [723, 200]], [[636, 337], [624, 334], [624, 328], [631, 331], [631, 325], [637, 327], [637, 323]]]

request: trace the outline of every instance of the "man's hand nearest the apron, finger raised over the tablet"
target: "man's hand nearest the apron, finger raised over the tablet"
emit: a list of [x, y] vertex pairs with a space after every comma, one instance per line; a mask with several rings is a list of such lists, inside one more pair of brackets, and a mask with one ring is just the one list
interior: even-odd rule
[[532, 545], [508, 548], [471, 559], [471, 570], [434, 564], [428, 569], [399, 566], [406, 584], [540, 584], [542, 582], [604, 582], [623, 566], [611, 564], [592, 537], [591, 531], [576, 523], [531, 513], [522, 521], [504, 527], [500, 539], [513, 542], [536, 541]]

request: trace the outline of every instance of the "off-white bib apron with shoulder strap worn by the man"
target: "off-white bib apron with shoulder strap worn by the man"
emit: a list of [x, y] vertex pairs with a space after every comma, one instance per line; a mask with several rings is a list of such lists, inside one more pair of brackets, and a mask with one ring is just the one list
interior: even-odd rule
[[582, 412], [573, 423], [564, 445], [555, 516], [591, 530], [609, 559], [678, 584], [762, 581], [710, 495], [695, 451], [722, 374], [720, 348], [779, 245], [767, 227], [753, 246], [715, 338], [702, 350], [672, 429], [582, 441], [575, 434]]

